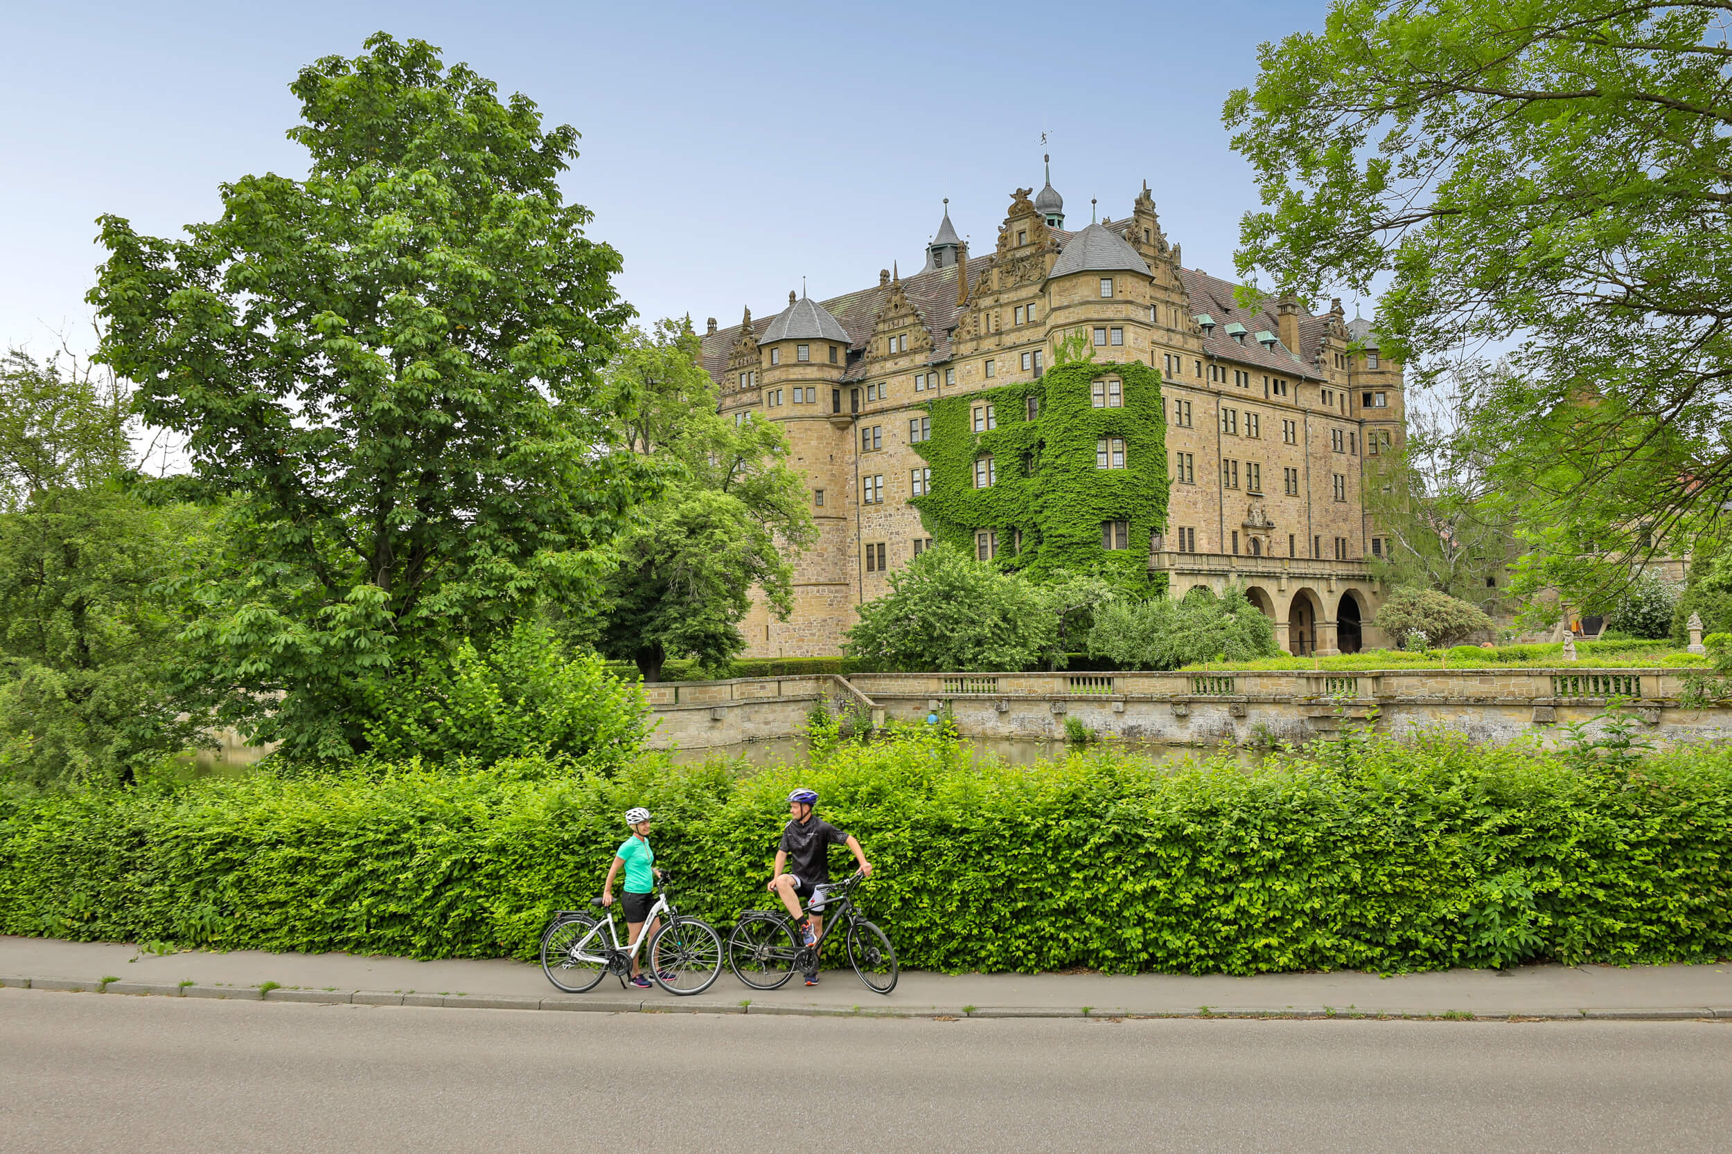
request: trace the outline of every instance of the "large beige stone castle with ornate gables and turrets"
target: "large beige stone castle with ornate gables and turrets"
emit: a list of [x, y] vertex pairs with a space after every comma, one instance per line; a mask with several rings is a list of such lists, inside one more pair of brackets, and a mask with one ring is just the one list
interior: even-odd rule
[[[916, 448], [932, 403], [1037, 381], [1077, 344], [1100, 363], [1098, 405], [1114, 401], [1115, 363], [1160, 374], [1171, 488], [1167, 524], [1147, 538], [1150, 576], [1174, 597], [1245, 587], [1289, 652], [1387, 644], [1370, 625], [1382, 588], [1367, 564], [1387, 538], [1361, 484], [1403, 441], [1403, 374], [1370, 325], [1341, 301], [1320, 315], [1297, 298], [1242, 308], [1231, 282], [1185, 268], [1147, 183], [1129, 216], [1074, 232], [1050, 168], [1029, 194], [1013, 194], [991, 253], [970, 256], [946, 202], [914, 275], [882, 270], [828, 301], [790, 292], [774, 317], [746, 310], [729, 329], [710, 318], [701, 355], [721, 412], [783, 426], [819, 528], [795, 566], [793, 614], [755, 604], [745, 656], [840, 652], [856, 606], [932, 545], [908, 503], [934, 483]], [[1126, 547], [1102, 528], [1102, 548]], [[977, 555], [1003, 555], [999, 536], [982, 528]]]

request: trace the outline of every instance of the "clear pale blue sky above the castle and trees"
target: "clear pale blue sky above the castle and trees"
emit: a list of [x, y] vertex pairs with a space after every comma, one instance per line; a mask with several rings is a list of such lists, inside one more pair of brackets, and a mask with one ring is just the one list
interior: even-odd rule
[[[584, 135], [566, 194], [625, 256], [646, 320], [727, 325], [918, 268], [942, 197], [979, 253], [1008, 194], [1067, 223], [1148, 180], [1185, 263], [1231, 273], [1256, 206], [1221, 128], [1257, 45], [1323, 0], [1214, 3], [78, 3], [0, 7], [0, 344], [88, 346], [99, 213], [154, 235], [216, 185], [305, 173], [284, 138], [303, 64], [378, 29], [430, 40]], [[1041, 133], [1048, 133], [1043, 149]], [[1351, 303], [1349, 303], [1351, 308]]]

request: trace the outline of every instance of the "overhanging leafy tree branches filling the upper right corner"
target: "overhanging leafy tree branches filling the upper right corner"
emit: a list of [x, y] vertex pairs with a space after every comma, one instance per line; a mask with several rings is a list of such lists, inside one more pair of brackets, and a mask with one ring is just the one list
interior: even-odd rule
[[1335, 0], [1226, 102], [1266, 204], [1244, 273], [1297, 292], [1387, 275], [1382, 351], [1422, 381], [1507, 353], [1476, 420], [1521, 490], [1529, 585], [1590, 599], [1732, 497], [1727, 16]]

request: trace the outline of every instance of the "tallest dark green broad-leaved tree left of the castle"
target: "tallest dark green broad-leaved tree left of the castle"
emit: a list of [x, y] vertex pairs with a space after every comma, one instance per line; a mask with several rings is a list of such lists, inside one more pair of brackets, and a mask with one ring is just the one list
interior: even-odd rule
[[599, 377], [630, 310], [558, 185], [577, 131], [419, 40], [365, 47], [291, 85], [305, 180], [223, 185], [184, 240], [104, 216], [90, 294], [187, 438], [178, 491], [232, 510], [197, 675], [301, 756], [364, 746], [378, 678], [591, 593], [653, 483]]

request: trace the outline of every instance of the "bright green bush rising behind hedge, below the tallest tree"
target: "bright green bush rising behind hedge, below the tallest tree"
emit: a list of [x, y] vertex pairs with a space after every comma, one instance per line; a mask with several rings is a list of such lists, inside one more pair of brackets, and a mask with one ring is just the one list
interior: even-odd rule
[[611, 768], [637, 756], [650, 732], [637, 685], [540, 625], [520, 625], [485, 654], [464, 640], [449, 664], [428, 663], [374, 696], [365, 735], [383, 761], [539, 756]]

